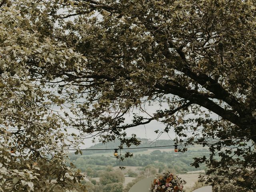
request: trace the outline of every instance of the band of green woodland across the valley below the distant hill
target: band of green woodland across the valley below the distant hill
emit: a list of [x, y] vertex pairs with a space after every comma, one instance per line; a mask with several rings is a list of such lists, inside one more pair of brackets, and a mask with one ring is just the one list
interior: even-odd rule
[[[209, 152], [198, 150], [188, 152], [185, 154], [174, 152], [161, 152], [159, 150], [153, 151], [150, 154], [135, 154], [132, 158], [127, 158], [123, 162], [119, 162], [116, 158], [109, 156], [109, 154], [101, 156], [88, 156], [83, 155], [80, 157], [70, 156], [72, 163], [82, 172], [86, 172], [88, 176], [98, 177], [101, 170], [105, 170], [105, 166], [139, 166], [146, 167], [152, 165], [160, 172], [162, 170], [170, 169], [176, 173], [186, 173], [188, 171], [198, 170], [190, 164], [193, 162], [194, 157], [201, 155], [209, 156]], [[205, 164], [200, 167], [200, 170], [206, 169]]]

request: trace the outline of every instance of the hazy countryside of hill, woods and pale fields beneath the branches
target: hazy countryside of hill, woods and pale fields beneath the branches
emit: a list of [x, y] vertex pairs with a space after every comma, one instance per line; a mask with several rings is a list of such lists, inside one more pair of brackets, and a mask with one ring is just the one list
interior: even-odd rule
[[[148, 146], [148, 141], [144, 140], [142, 146]], [[170, 145], [169, 140], [158, 141], [159, 145]], [[108, 148], [114, 148], [116, 143], [108, 144]], [[104, 146], [106, 148], [106, 146]], [[92, 146], [90, 149], [103, 148], [102, 144]], [[114, 150], [107, 151], [84, 151], [83, 155], [70, 154], [70, 160], [76, 168], [82, 170], [89, 180], [94, 183], [94, 187], [99, 188], [101, 186], [100, 178], [107, 173], [113, 175], [119, 174], [118, 178], [124, 177], [122, 182], [123, 188], [134, 184], [134, 179], [138, 181], [138, 178], [156, 176], [158, 172], [162, 170], [169, 170], [170, 172], [180, 175], [187, 184], [186, 189], [190, 189], [198, 181], [200, 173], [204, 174], [206, 169], [202, 164], [200, 168], [194, 168], [190, 164], [193, 162], [194, 157], [208, 156], [209, 152], [207, 148], [203, 148], [201, 145], [188, 146], [188, 150], [185, 153], [174, 152], [174, 147], [170, 148], [150, 148], [150, 149], [133, 149], [133, 150], [121, 150], [121, 154], [126, 152], [133, 153], [132, 157], [124, 158], [124, 161], [120, 161], [114, 157]], [[118, 150], [120, 155], [120, 150]], [[119, 166], [124, 166], [124, 170], [120, 170]], [[111, 177], [111, 176], [110, 176]], [[140, 179], [142, 179], [140, 178]], [[111, 180], [111, 178], [108, 178]], [[113, 180], [114, 182], [114, 180]], [[94, 190], [96, 190], [96, 188]], [[96, 190], [97, 191], [97, 190]], [[127, 192], [124, 190], [124, 192]]]

